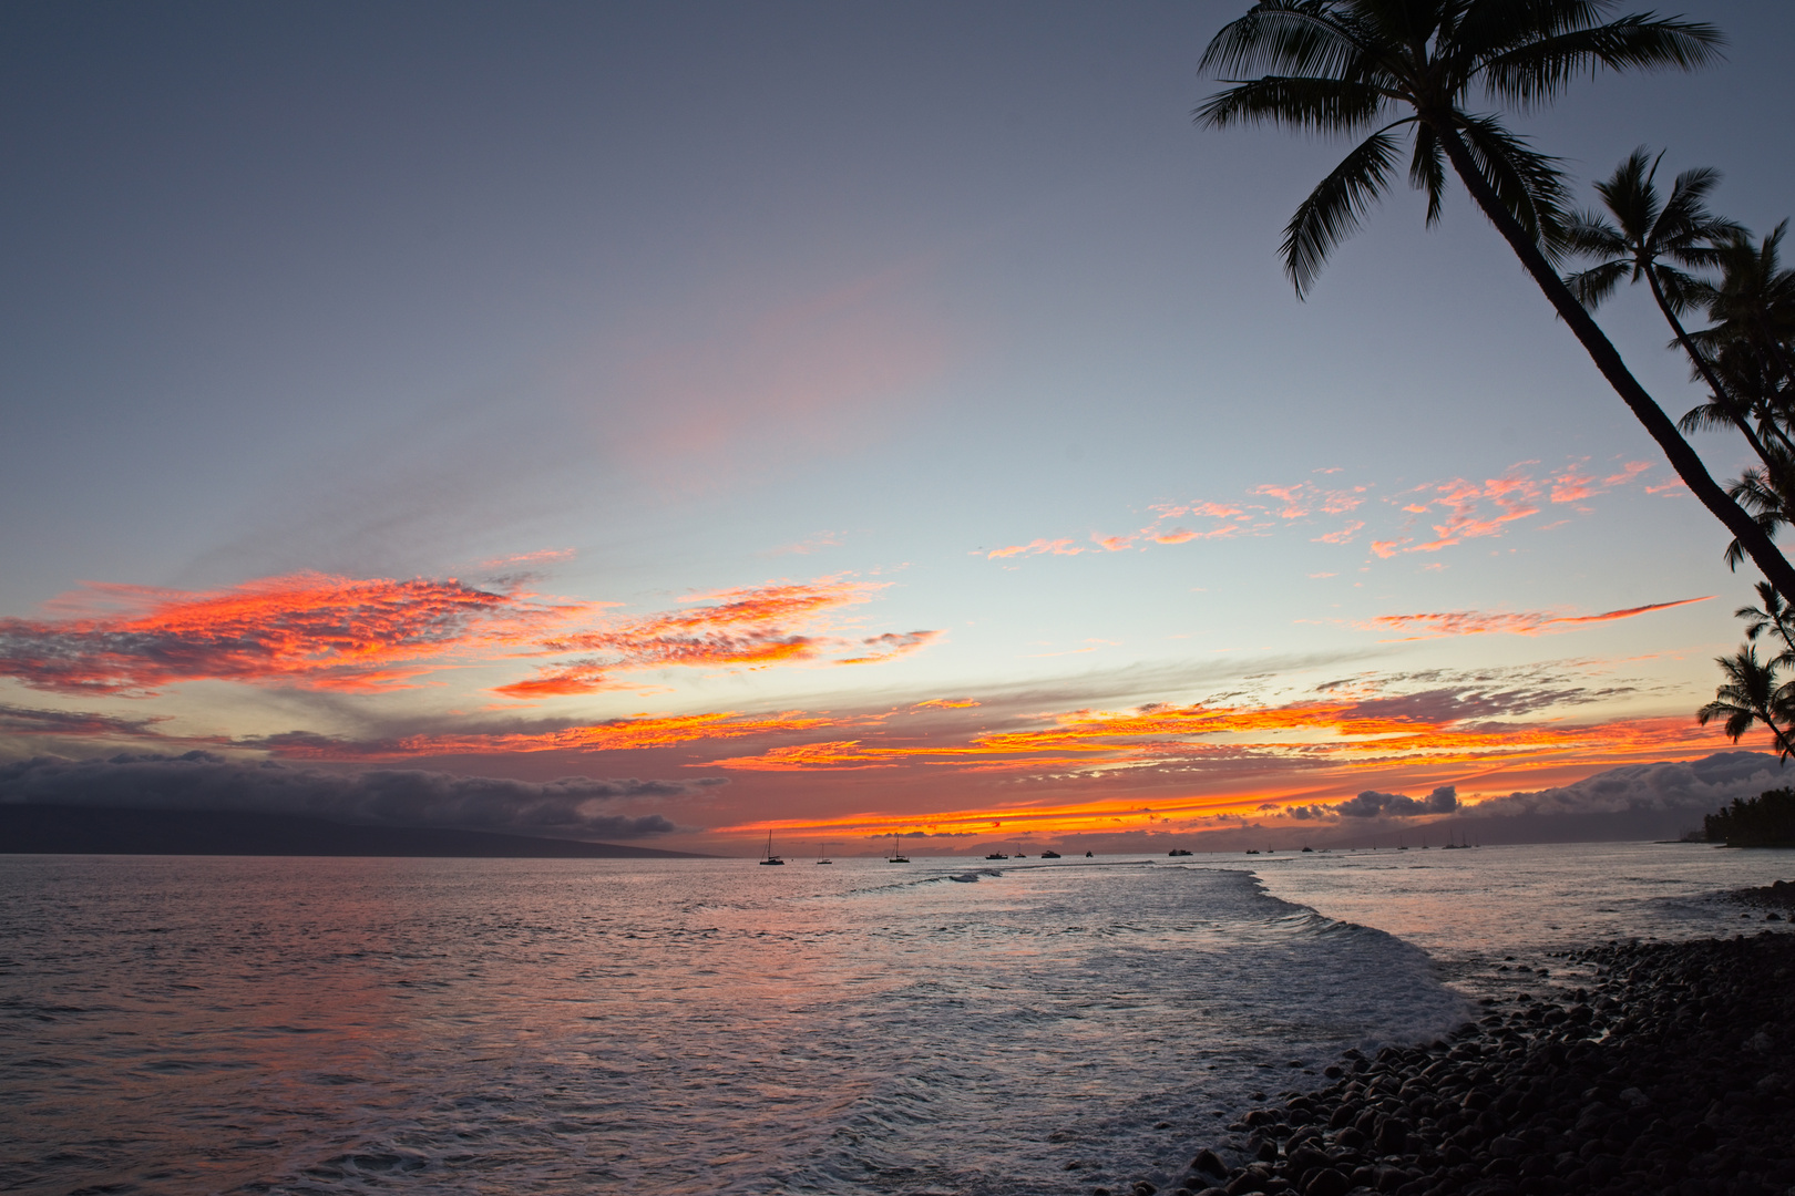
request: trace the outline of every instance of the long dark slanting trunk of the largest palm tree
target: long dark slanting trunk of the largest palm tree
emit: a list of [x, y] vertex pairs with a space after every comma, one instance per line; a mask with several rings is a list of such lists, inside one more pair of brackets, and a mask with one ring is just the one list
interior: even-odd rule
[[1608, 380], [1614, 393], [1621, 396], [1621, 402], [1633, 411], [1633, 416], [1646, 427], [1651, 439], [1664, 450], [1671, 468], [1677, 470], [1677, 477], [1684, 481], [1689, 493], [1714, 518], [1727, 525], [1727, 531], [1734, 534], [1747, 556], [1752, 558], [1752, 563], [1777, 588], [1777, 594], [1795, 601], [1795, 567], [1777, 550], [1775, 542], [1757, 525], [1757, 520], [1727, 497], [1727, 491], [1709, 475], [1707, 466], [1702, 464], [1702, 457], [1682, 438], [1682, 432], [1677, 430], [1677, 425], [1664, 414], [1657, 400], [1646, 393], [1646, 387], [1639, 386], [1639, 380], [1628, 371], [1626, 362], [1621, 360], [1621, 353], [1603, 335], [1601, 326], [1596, 325], [1589, 310], [1563, 285], [1563, 280], [1558, 278], [1558, 273], [1545, 260], [1545, 255], [1540, 253], [1538, 244], [1528, 235], [1528, 230], [1520, 228], [1520, 222], [1502, 206], [1495, 188], [1490, 186], [1477, 170], [1477, 163], [1472, 161], [1470, 151], [1465, 147], [1463, 138], [1459, 138], [1450, 113], [1423, 111], [1422, 118], [1434, 129], [1441, 149], [1447, 151], [1452, 169], [1465, 181], [1465, 188], [1472, 194], [1472, 199], [1477, 201], [1477, 206], [1483, 208], [1483, 213], [1502, 233], [1502, 238], [1508, 240], [1510, 249], [1515, 251], [1520, 264], [1533, 274], [1533, 282], [1551, 301], [1553, 308], [1556, 308], [1558, 317], [1571, 326], [1571, 332], [1583, 344], [1583, 351], [1596, 362], [1601, 377]]

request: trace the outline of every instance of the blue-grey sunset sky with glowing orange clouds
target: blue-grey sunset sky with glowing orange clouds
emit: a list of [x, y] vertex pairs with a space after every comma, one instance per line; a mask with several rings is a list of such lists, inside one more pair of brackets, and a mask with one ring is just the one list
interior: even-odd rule
[[[1463, 194], [1292, 294], [1244, 7], [5, 5], [0, 800], [1152, 848], [1732, 750], [1756, 577]], [[1664, 13], [1515, 124], [1766, 231], [1795, 11]]]

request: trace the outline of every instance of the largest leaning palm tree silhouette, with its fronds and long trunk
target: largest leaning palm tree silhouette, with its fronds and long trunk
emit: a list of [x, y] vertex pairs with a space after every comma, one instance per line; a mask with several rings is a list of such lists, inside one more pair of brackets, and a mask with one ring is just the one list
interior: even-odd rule
[[1427, 192], [1429, 224], [1440, 221], [1450, 163], [1689, 491], [1795, 601], [1795, 567], [1709, 477], [1553, 269], [1567, 221], [1556, 160], [1497, 117], [1467, 109], [1474, 91], [1529, 108], [1598, 66], [1691, 70], [1718, 56], [1721, 38], [1712, 25], [1650, 13], [1601, 23], [1612, 7], [1612, 0], [1262, 0], [1222, 27], [1201, 61], [1221, 75], [1260, 77], [1224, 77], [1233, 86], [1204, 100], [1197, 120], [1215, 129], [1269, 122], [1366, 134], [1285, 228], [1283, 265], [1300, 296], [1389, 190], [1404, 136], [1413, 136], [1409, 181]]

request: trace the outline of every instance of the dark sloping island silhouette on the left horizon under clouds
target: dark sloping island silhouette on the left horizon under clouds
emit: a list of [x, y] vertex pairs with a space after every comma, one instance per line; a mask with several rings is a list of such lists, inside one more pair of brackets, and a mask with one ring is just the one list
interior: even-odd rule
[[296, 814], [0, 805], [0, 855], [397, 855], [452, 859], [713, 859], [621, 843], [443, 827], [368, 827]]

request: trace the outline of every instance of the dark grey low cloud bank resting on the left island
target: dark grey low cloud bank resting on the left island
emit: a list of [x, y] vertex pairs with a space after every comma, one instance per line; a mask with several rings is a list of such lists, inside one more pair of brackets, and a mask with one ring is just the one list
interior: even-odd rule
[[0, 803], [305, 814], [341, 823], [454, 827], [512, 834], [643, 839], [677, 827], [661, 814], [610, 814], [619, 798], [671, 798], [723, 778], [510, 780], [424, 769], [328, 773], [275, 760], [226, 760], [210, 751], [115, 755], [104, 760], [34, 757], [0, 764]]

